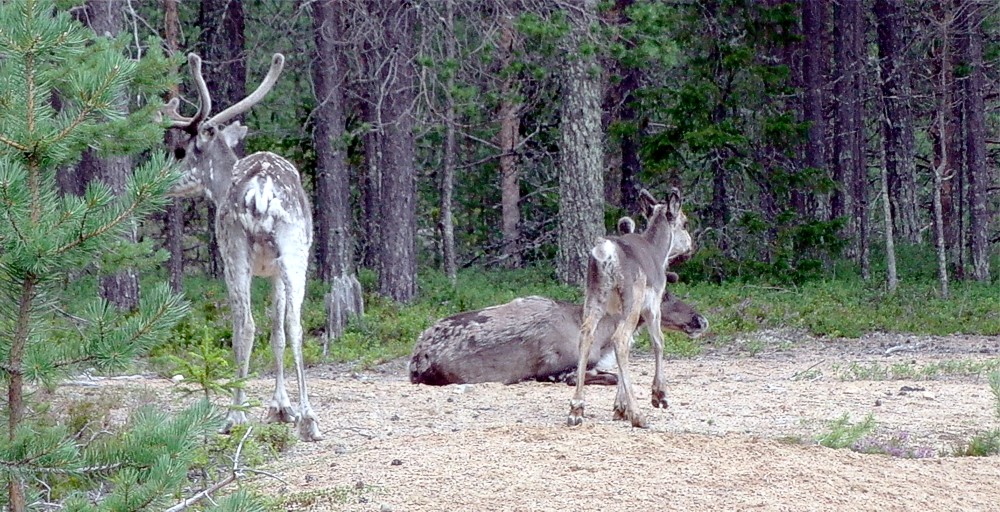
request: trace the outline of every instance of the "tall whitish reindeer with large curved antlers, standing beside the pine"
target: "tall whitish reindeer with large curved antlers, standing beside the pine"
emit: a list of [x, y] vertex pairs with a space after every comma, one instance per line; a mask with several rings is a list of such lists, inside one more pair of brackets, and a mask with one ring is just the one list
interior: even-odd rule
[[[189, 54], [188, 67], [198, 87], [198, 111], [192, 117], [180, 115], [174, 98], [161, 108], [161, 114], [169, 119], [170, 128], [184, 135], [174, 148], [174, 156], [181, 161], [184, 175], [171, 194], [182, 197], [204, 194], [216, 208], [215, 234], [233, 315], [237, 377], [245, 378], [249, 372], [254, 341], [251, 277], [270, 277], [274, 288], [271, 350], [277, 375], [267, 421], [295, 423], [302, 440], [318, 441], [323, 436], [309, 404], [302, 363], [301, 308], [312, 243], [308, 199], [298, 170], [288, 160], [270, 152], [237, 157], [233, 148], [246, 136], [247, 128], [238, 121], [229, 123], [264, 98], [281, 74], [284, 62], [283, 55], [274, 54], [271, 68], [257, 90], [209, 117], [212, 98], [201, 74], [201, 59]], [[285, 390], [286, 329], [299, 384], [300, 409], [297, 412]], [[234, 391], [233, 409], [224, 431], [246, 423], [246, 413], [242, 410], [245, 398], [243, 389]]]

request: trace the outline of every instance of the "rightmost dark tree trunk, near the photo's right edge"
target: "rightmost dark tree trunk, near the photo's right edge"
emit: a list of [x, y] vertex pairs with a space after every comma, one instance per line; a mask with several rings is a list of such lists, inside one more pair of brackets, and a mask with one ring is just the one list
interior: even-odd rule
[[989, 225], [987, 189], [992, 176], [986, 158], [986, 119], [983, 91], [986, 79], [983, 73], [983, 5], [973, 0], [961, 11], [961, 56], [969, 74], [964, 80], [963, 102], [965, 111], [965, 163], [968, 176], [969, 251], [972, 277], [977, 281], [990, 280]]

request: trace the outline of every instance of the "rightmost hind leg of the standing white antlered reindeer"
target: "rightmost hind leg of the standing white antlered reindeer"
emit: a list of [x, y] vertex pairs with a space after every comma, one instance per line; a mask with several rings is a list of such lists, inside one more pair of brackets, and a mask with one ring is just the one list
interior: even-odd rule
[[319, 420], [309, 403], [309, 392], [306, 388], [305, 363], [302, 360], [302, 300], [306, 292], [306, 262], [308, 253], [303, 252], [295, 261], [301, 262], [301, 267], [286, 269], [288, 276], [288, 302], [285, 318], [288, 322], [288, 335], [292, 341], [292, 356], [295, 359], [295, 376], [299, 381], [300, 414], [296, 428], [299, 439], [303, 441], [322, 441], [323, 434], [319, 430]]

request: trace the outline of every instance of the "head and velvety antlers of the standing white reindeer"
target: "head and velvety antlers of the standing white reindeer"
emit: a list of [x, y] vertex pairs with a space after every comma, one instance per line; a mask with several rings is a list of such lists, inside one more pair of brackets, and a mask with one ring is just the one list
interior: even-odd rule
[[[174, 158], [181, 162], [184, 172], [181, 180], [170, 191], [175, 196], [192, 196], [204, 193], [210, 200], [222, 197], [232, 180], [232, 169], [239, 158], [233, 150], [246, 137], [247, 128], [239, 121], [229, 123], [234, 117], [250, 110], [271, 90], [285, 65], [280, 53], [271, 59], [271, 69], [257, 90], [235, 105], [209, 117], [212, 98], [205, 78], [201, 74], [201, 58], [188, 54], [188, 67], [198, 87], [198, 111], [192, 117], [178, 111], [179, 100], [174, 98], [160, 108], [157, 121], [169, 119], [169, 128], [179, 132], [174, 147]], [[229, 124], [227, 124], [229, 123]]]

